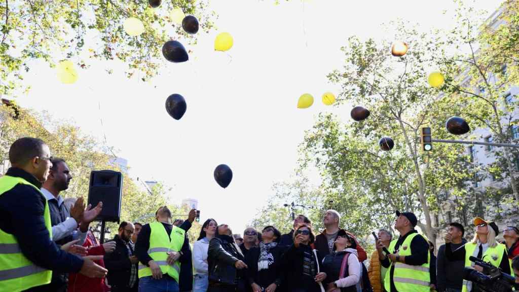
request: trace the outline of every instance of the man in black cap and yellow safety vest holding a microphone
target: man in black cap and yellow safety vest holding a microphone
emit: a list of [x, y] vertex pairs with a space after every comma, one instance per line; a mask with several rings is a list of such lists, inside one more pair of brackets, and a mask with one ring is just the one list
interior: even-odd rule
[[380, 263], [389, 268], [384, 277], [388, 292], [429, 292], [429, 243], [415, 230], [418, 220], [411, 212], [397, 211], [394, 228], [400, 236], [389, 244], [389, 252], [383, 253], [384, 244], [377, 241]]

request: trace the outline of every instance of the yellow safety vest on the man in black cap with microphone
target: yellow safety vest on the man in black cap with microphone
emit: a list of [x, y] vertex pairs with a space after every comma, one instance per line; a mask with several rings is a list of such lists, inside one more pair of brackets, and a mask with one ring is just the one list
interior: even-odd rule
[[[407, 235], [398, 251], [399, 256], [410, 256], [412, 254], [411, 241], [415, 236], [423, 235], [418, 233]], [[389, 244], [389, 251], [394, 251], [394, 247], [397, 245], [397, 241], [398, 239], [391, 241]], [[429, 292], [431, 281], [429, 275], [430, 261], [431, 254], [427, 253], [427, 263], [424, 263], [421, 266], [412, 266], [403, 262], [391, 262], [391, 264], [394, 264], [393, 283], [395, 288], [401, 292]], [[391, 291], [390, 274], [390, 271], [387, 271], [386, 276], [384, 277], [384, 288], [386, 288], [387, 291]]]

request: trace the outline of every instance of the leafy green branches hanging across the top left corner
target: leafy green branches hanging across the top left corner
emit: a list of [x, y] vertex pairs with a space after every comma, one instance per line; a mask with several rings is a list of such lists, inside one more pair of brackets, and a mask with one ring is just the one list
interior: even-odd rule
[[[206, 0], [163, 1], [158, 8], [147, 0], [5, 0], [0, 4], [0, 92], [16, 94], [32, 59], [51, 67], [71, 59], [80, 68], [88, 68], [90, 59], [115, 59], [128, 65], [128, 77], [142, 72], [143, 80], [151, 78], [166, 62], [161, 57], [163, 43], [171, 38], [196, 42], [181, 25], [172, 25], [170, 11], [182, 8], [199, 19], [201, 31], [208, 32], [215, 14], [207, 11], [207, 5]], [[127, 17], [139, 18], [145, 32], [138, 37], [126, 34], [122, 24]], [[88, 59], [80, 57], [84, 51]]]

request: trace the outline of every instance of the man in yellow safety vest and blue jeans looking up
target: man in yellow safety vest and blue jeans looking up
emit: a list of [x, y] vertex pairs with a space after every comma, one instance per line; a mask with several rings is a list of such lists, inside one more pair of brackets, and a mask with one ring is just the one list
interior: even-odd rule
[[156, 222], [142, 227], [135, 253], [139, 259], [139, 291], [179, 292], [180, 263], [190, 256], [185, 231], [171, 224], [171, 211], [160, 207]]

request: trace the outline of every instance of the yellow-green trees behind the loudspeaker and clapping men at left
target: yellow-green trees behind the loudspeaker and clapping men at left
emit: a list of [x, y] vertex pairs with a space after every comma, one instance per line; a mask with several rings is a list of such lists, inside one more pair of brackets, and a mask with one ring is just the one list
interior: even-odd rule
[[[61, 193], [66, 197], [83, 197], [87, 200], [90, 172], [92, 170], [111, 169], [120, 171], [117, 165], [110, 163], [113, 158], [110, 149], [102, 146], [97, 140], [86, 136], [78, 127], [65, 121], [52, 120], [46, 114], [35, 113], [15, 106], [0, 106], [0, 174], [5, 174], [9, 167], [8, 157], [10, 145], [21, 137], [37, 137], [44, 140], [51, 154], [65, 160], [73, 179], [69, 189]], [[175, 218], [187, 219], [186, 206], [175, 206], [170, 203], [170, 189], [157, 183], [151, 190], [136, 184], [128, 175], [123, 175], [121, 220], [139, 221], [143, 224], [155, 220], [155, 212], [167, 205]], [[95, 227], [97, 223], [92, 223]], [[115, 235], [118, 223], [108, 222], [107, 228]], [[194, 222], [188, 232], [190, 242], [195, 242], [200, 233], [200, 224]]]

